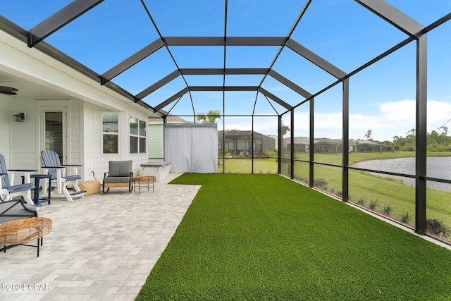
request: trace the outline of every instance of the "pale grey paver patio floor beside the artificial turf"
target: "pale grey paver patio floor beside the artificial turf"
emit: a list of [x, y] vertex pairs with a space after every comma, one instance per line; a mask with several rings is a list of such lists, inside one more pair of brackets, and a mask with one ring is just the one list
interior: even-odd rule
[[39, 258], [26, 246], [0, 254], [0, 300], [134, 300], [200, 188], [166, 182], [52, 198], [39, 213], [53, 221]]

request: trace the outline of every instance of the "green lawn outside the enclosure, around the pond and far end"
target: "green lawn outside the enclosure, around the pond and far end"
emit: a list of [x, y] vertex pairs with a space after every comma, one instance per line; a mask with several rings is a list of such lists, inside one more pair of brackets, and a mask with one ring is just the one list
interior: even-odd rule
[[[373, 160], [405, 158], [414, 156], [414, 152], [375, 152], [375, 153], [350, 153], [350, 164], [352, 162]], [[428, 156], [451, 156], [450, 153], [435, 152]], [[308, 160], [308, 154], [297, 154], [297, 159]], [[341, 165], [341, 154], [315, 154], [315, 161]], [[226, 173], [251, 173], [251, 159], [226, 159]], [[282, 171], [288, 174], [288, 163], [284, 161]], [[342, 190], [342, 170], [333, 166], [316, 164], [314, 166], [314, 178], [326, 181], [328, 192], [340, 197]], [[220, 171], [222, 173], [222, 170]], [[254, 173], [277, 173], [276, 159], [254, 159]], [[308, 182], [309, 164], [295, 162], [295, 178]], [[390, 216], [400, 220], [402, 215], [409, 214], [411, 226], [415, 222], [415, 188], [404, 183], [383, 178], [363, 171], [350, 171], [350, 200], [369, 207], [371, 202], [376, 204], [375, 211], [382, 212], [384, 207], [390, 207]], [[427, 218], [438, 219], [445, 225], [451, 227], [451, 192], [428, 189]]]

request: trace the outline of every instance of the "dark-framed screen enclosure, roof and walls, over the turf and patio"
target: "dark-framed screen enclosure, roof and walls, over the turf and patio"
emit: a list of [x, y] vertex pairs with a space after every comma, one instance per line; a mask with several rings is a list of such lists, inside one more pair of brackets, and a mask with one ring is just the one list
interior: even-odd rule
[[450, 1], [26, 2], [0, 26], [28, 47], [163, 121], [220, 112], [218, 172], [280, 173], [449, 239]]

